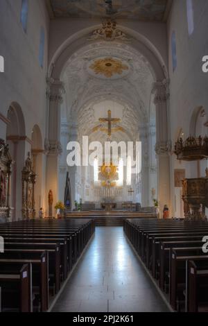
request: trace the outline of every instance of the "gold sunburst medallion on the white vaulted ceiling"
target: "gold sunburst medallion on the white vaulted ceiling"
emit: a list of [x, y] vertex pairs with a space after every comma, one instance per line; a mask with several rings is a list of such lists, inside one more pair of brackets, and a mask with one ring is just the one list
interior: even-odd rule
[[128, 70], [127, 65], [114, 58], [98, 59], [89, 68], [94, 70], [96, 75], [104, 75], [107, 78], [111, 78], [115, 74], [121, 75], [123, 71]]

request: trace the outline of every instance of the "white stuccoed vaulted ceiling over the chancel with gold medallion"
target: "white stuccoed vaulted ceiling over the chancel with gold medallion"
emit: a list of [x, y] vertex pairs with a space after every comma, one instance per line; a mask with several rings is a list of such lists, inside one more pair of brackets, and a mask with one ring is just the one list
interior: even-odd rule
[[[99, 117], [121, 119], [112, 140], [136, 139], [139, 125], [149, 121], [153, 74], [147, 60], [128, 44], [97, 42], [74, 53], [62, 74], [68, 120], [78, 124], [78, 135], [103, 139]], [[117, 126], [118, 127], [118, 126]], [[106, 140], [106, 137], [104, 137]]]

